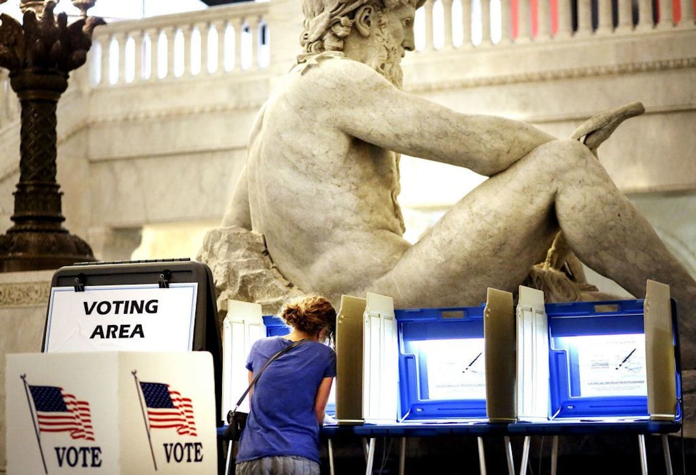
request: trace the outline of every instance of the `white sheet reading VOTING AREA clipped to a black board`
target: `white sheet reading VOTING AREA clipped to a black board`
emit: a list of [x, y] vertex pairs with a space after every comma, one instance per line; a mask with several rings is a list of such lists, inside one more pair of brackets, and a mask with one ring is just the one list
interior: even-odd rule
[[44, 351], [190, 351], [197, 282], [53, 287]]

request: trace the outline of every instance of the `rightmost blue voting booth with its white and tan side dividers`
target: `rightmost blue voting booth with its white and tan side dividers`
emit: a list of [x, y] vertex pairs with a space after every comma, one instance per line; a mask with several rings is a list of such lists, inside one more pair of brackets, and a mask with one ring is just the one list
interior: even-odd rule
[[681, 421], [675, 305], [648, 281], [647, 297], [547, 303], [521, 288], [519, 421]]

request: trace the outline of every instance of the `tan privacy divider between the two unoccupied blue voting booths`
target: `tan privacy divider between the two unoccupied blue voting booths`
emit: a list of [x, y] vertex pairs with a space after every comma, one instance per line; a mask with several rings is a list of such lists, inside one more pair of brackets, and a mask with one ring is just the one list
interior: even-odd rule
[[516, 343], [512, 293], [489, 287], [483, 335], [486, 414], [491, 422], [514, 422]]

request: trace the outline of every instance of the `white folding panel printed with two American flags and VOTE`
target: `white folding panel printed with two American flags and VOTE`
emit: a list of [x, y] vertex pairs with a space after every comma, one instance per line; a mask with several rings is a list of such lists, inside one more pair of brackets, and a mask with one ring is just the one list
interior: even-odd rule
[[10, 474], [212, 474], [209, 353], [8, 355]]

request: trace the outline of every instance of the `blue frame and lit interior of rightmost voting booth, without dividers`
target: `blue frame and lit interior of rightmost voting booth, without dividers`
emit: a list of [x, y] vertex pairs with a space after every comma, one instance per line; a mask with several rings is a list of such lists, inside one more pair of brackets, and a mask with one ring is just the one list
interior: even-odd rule
[[[645, 378], [643, 305], [643, 299], [546, 305], [550, 342], [551, 419], [649, 417], [647, 393], [640, 385], [640, 380]], [[681, 399], [681, 371], [674, 311], [672, 318], [676, 390], [677, 399]], [[615, 358], [613, 361], [594, 362], [598, 365], [611, 363], [604, 373], [627, 373], [628, 377], [614, 381], [597, 378], [591, 383], [600, 385], [600, 389], [591, 389], [591, 385], [583, 381], [591, 379], [583, 378], [583, 371], [592, 371], [592, 361], [589, 361], [592, 356], [583, 355], [583, 351], [587, 352], [589, 349], [588, 344], [603, 346], [592, 351], [592, 356], [598, 355], [601, 350], [608, 359]], [[625, 351], [622, 353], [622, 350]], [[599, 357], [596, 359], [599, 360]], [[679, 405], [674, 417], [675, 421], [681, 421]]]

